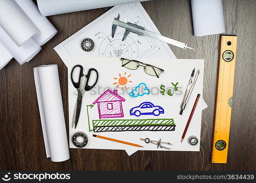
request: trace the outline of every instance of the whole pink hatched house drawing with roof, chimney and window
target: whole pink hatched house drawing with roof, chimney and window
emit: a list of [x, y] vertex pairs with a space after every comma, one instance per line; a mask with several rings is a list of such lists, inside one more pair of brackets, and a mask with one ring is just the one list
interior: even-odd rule
[[93, 102], [98, 105], [99, 117], [123, 117], [122, 102], [125, 99], [117, 94], [117, 90], [107, 89], [97, 100]]

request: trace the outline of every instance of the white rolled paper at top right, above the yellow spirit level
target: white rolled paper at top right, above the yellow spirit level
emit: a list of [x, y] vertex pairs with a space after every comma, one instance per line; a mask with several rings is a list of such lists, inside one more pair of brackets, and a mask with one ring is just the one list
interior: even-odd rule
[[222, 0], [191, 0], [194, 36], [225, 32]]

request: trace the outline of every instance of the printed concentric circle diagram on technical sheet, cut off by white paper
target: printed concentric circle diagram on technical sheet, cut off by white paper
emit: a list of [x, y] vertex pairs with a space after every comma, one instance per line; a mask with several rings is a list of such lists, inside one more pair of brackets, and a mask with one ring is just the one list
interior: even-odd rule
[[138, 46], [130, 36], [122, 41], [123, 34], [116, 33], [107, 36], [100, 44], [99, 57], [109, 58], [136, 58], [138, 57]]

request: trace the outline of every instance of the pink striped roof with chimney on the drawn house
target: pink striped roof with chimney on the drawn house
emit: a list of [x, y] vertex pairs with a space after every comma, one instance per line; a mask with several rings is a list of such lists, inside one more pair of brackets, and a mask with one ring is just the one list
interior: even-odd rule
[[110, 102], [110, 101], [125, 101], [123, 97], [120, 97], [117, 94], [117, 90], [111, 91], [110, 89], [107, 89], [99, 98], [97, 98], [93, 104], [96, 104], [97, 102]]

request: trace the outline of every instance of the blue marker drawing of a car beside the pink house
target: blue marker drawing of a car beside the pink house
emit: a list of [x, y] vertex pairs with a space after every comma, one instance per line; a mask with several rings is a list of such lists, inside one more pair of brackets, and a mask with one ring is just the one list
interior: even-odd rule
[[154, 115], [159, 116], [164, 113], [164, 109], [160, 106], [154, 105], [151, 102], [142, 102], [139, 106], [130, 109], [130, 115]]

